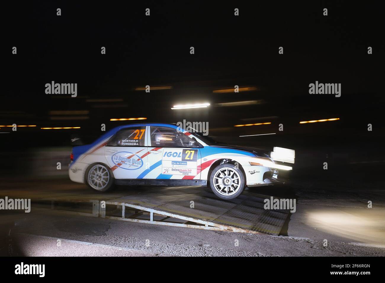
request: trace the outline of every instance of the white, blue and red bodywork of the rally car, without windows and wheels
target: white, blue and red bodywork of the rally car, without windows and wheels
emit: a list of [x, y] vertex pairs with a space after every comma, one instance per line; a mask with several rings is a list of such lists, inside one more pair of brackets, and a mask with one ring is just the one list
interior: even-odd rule
[[[107, 146], [109, 139], [122, 129], [144, 126], [144, 146]], [[91, 145], [74, 147], [76, 156], [75, 161], [70, 163], [70, 179], [85, 183], [85, 173], [90, 164], [102, 163], [110, 168], [115, 179], [208, 180], [214, 162], [227, 159], [243, 168], [247, 186], [260, 186], [272, 184], [270, 179], [263, 179], [264, 173], [274, 171], [274, 167], [279, 168], [267, 157], [258, 157], [239, 149], [209, 146], [186, 131], [183, 131], [186, 136], [194, 137], [203, 147], [154, 147], [150, 141], [150, 126], [176, 127], [156, 123], [122, 126], [111, 130]], [[266, 163], [268, 166], [250, 165], [250, 162]], [[273, 177], [277, 177], [277, 171]]]

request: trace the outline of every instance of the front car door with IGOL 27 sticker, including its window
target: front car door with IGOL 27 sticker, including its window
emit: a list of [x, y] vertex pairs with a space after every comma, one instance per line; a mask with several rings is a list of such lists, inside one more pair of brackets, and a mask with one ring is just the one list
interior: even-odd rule
[[201, 158], [198, 142], [172, 127], [150, 126], [149, 172], [146, 179], [199, 179]]

